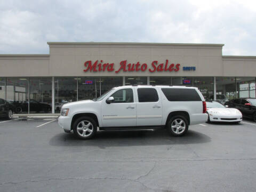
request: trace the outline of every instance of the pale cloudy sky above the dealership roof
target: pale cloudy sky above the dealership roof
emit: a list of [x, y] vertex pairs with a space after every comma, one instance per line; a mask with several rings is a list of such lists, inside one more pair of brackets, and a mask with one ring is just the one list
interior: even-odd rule
[[256, 1], [0, 0], [0, 54], [47, 42], [217, 43], [256, 56]]

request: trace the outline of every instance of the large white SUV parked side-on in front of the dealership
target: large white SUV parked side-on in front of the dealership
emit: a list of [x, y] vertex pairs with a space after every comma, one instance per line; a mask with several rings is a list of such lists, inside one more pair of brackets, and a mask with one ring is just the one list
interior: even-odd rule
[[65, 132], [90, 139], [99, 130], [166, 127], [181, 136], [189, 125], [207, 121], [206, 104], [196, 87], [133, 85], [114, 87], [95, 100], [62, 106], [59, 125]]

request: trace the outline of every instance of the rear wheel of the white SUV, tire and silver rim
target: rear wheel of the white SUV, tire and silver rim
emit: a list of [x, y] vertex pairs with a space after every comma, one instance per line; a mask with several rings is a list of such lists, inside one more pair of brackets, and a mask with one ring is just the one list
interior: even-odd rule
[[167, 123], [167, 131], [175, 137], [184, 135], [188, 131], [188, 120], [181, 115], [172, 117]]

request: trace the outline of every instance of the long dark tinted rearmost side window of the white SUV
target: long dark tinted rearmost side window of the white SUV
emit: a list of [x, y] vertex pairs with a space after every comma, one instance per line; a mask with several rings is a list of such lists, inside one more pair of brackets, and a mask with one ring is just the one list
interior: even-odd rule
[[162, 88], [169, 101], [202, 101], [194, 89]]

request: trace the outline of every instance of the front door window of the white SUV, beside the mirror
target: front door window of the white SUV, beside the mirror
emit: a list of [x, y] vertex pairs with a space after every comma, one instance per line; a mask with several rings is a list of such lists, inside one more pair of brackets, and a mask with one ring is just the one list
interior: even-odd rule
[[114, 97], [113, 103], [129, 103], [133, 102], [133, 91], [132, 89], [122, 89], [113, 93], [111, 97]]

